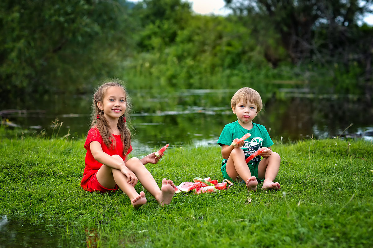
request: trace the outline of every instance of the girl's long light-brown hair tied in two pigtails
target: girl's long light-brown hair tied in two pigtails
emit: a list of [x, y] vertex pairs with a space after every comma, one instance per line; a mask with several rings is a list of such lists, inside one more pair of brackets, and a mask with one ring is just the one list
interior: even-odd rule
[[[129, 112], [131, 111], [131, 104], [129, 103], [129, 97], [126, 92], [126, 89], [123, 87], [124, 82], [119, 79], [110, 79], [104, 82], [103, 85], [99, 86], [96, 92], [93, 95], [93, 104], [92, 104], [92, 116], [91, 116], [91, 128], [96, 127], [101, 134], [101, 137], [107, 147], [114, 148], [116, 146], [115, 139], [110, 132], [109, 123], [104, 117], [104, 111], [99, 109], [97, 106], [98, 102], [103, 102], [104, 95], [112, 86], [117, 86], [123, 89], [123, 92], [126, 97], [126, 111], [119, 118], [117, 127], [120, 132], [120, 139], [123, 144], [123, 155], [125, 155], [131, 146], [131, 131], [127, 127], [127, 121], [129, 120]], [[123, 117], [126, 117], [126, 122], [123, 121]]]

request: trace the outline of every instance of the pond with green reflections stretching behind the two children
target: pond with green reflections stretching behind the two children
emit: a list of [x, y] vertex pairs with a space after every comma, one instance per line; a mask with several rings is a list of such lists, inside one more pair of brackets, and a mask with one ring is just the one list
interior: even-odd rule
[[[129, 92], [132, 102], [131, 124], [134, 146], [149, 147], [182, 144], [216, 144], [225, 124], [236, 120], [230, 107], [235, 90], [181, 90]], [[373, 108], [364, 98], [352, 95], [310, 95], [295, 89], [276, 98], [262, 95], [264, 109], [254, 122], [265, 125], [273, 140], [343, 136], [370, 139]], [[46, 131], [48, 135], [84, 137], [90, 124], [91, 95], [53, 97], [35, 101], [18, 111], [2, 111], [3, 123]], [[51, 127], [58, 118], [62, 123]], [[352, 124], [352, 125], [351, 125]], [[350, 126], [351, 125], [351, 126]]]

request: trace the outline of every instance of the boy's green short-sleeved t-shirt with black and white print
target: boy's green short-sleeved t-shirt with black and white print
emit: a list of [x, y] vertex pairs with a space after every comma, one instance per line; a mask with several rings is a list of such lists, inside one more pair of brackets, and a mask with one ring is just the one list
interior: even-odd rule
[[[269, 133], [266, 127], [260, 124], [253, 123], [253, 128], [247, 130], [238, 123], [238, 121], [226, 124], [223, 128], [222, 133], [219, 136], [217, 143], [222, 146], [223, 144], [229, 146], [232, 141], [236, 138], [241, 138], [245, 134], [250, 133], [250, 138], [246, 139], [241, 149], [245, 152], [245, 158], [248, 158], [251, 154], [256, 152], [261, 147], [270, 147], [273, 145], [273, 141], [269, 137]], [[261, 160], [260, 156], [256, 156], [249, 163], [257, 163]], [[223, 159], [222, 165], [226, 163], [226, 159]]]

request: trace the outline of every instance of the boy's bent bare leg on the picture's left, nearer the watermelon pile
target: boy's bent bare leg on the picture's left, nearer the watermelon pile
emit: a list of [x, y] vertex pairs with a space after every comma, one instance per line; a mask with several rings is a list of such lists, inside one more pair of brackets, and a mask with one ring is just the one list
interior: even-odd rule
[[225, 169], [233, 180], [239, 181], [243, 179], [249, 191], [256, 191], [258, 181], [255, 176], [251, 176], [251, 172], [245, 162], [245, 153], [241, 148], [235, 148], [229, 155]]

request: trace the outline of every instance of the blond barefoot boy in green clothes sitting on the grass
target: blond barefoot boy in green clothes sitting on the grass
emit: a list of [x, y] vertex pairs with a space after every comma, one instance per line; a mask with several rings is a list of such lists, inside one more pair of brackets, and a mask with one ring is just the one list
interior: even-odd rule
[[[231, 99], [233, 114], [237, 121], [225, 125], [217, 143], [222, 147], [223, 162], [221, 171], [223, 177], [233, 181], [244, 181], [249, 191], [256, 191], [258, 179], [263, 180], [262, 189], [280, 189], [278, 182], [273, 182], [279, 172], [280, 155], [272, 152], [271, 138], [263, 125], [253, 123], [253, 119], [263, 108], [259, 93], [251, 88], [239, 89]], [[232, 145], [233, 139], [241, 138], [250, 133], [247, 140], [241, 140]], [[246, 163], [245, 159], [263, 148], [260, 156]]]

